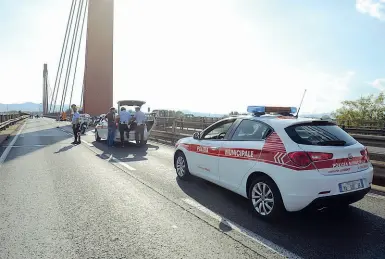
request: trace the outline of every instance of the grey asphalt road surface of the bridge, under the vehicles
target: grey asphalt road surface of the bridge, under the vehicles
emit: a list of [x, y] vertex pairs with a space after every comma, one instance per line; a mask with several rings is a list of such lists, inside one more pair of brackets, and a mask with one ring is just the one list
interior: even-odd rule
[[383, 196], [369, 194], [346, 214], [291, 213], [283, 222], [267, 223], [236, 194], [200, 179], [178, 181], [172, 147], [152, 142], [108, 149], [92, 133], [74, 146], [67, 132], [61, 122], [31, 119], [8, 148], [0, 164], [0, 258], [385, 253]]

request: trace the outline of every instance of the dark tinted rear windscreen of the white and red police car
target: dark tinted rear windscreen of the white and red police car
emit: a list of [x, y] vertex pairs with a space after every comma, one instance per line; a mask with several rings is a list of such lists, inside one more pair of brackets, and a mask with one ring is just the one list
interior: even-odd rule
[[315, 146], [350, 146], [357, 141], [337, 125], [313, 121], [289, 126], [285, 129], [297, 144]]

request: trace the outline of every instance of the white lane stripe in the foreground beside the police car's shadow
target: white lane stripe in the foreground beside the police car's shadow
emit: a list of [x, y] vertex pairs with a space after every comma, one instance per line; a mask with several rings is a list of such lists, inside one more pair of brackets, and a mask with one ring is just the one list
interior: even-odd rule
[[269, 250], [283, 256], [283, 257], [286, 257], [286, 258], [302, 258], [288, 250], [286, 250], [285, 248], [283, 247], [280, 247], [279, 245], [277, 244], [274, 244], [273, 242], [257, 235], [256, 233], [248, 230], [248, 229], [245, 229], [244, 227], [241, 227], [239, 226], [238, 224], [216, 214], [215, 212], [209, 210], [208, 208], [202, 206], [201, 204], [199, 204], [198, 202], [192, 200], [192, 199], [189, 199], [189, 198], [183, 198], [182, 199], [183, 202], [187, 203], [188, 205], [191, 205], [193, 206], [194, 208], [200, 210], [201, 212], [205, 213], [206, 215], [218, 220], [219, 222], [225, 224], [226, 226], [230, 227], [232, 230], [234, 231], [237, 231], [243, 235], [245, 235], [246, 237], [252, 239], [253, 241], [257, 242], [258, 244], [260, 245], [263, 245], [264, 247], [268, 248]]

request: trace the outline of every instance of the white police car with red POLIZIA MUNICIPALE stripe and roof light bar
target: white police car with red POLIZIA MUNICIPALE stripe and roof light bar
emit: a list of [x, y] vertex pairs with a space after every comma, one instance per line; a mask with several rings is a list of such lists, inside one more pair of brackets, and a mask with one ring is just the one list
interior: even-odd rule
[[178, 177], [195, 175], [238, 193], [263, 218], [362, 199], [373, 179], [367, 149], [332, 122], [296, 118], [296, 110], [250, 106], [253, 115], [226, 118], [180, 139]]

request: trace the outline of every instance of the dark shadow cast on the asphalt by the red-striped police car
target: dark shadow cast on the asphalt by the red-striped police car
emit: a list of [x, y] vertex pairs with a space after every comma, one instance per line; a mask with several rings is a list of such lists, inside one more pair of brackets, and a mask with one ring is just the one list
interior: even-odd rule
[[[305, 210], [279, 222], [254, 215], [248, 200], [205, 180], [177, 178], [181, 190], [206, 208], [303, 258], [384, 258], [385, 220], [350, 206], [345, 212]], [[219, 225], [227, 232], [226, 219]]]

